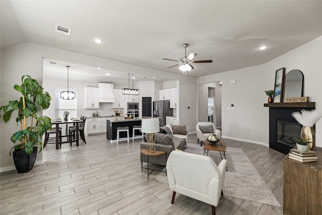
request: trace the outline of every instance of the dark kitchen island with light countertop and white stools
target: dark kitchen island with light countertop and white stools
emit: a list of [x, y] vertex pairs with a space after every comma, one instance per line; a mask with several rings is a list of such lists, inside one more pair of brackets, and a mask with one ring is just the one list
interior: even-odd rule
[[[142, 119], [139, 117], [134, 117], [133, 119], [125, 119], [120, 117], [108, 118], [106, 125], [106, 138], [110, 142], [116, 142], [117, 127], [129, 127], [129, 137], [133, 135], [133, 125], [141, 125]], [[135, 130], [135, 135], [140, 135], [138, 130]], [[120, 137], [126, 137], [126, 132], [120, 132]]]

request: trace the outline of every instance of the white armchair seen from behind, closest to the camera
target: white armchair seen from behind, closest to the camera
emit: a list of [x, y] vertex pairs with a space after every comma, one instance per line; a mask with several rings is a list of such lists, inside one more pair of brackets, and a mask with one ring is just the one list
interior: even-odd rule
[[212, 214], [218, 205], [225, 179], [227, 160], [217, 165], [212, 158], [186, 153], [171, 152], [167, 162], [170, 190], [173, 190], [171, 203], [176, 192], [211, 205]]

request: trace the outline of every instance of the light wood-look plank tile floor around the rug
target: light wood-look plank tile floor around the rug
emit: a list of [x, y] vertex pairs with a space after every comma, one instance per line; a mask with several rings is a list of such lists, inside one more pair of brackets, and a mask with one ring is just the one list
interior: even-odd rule
[[[106, 134], [87, 136], [87, 145], [53, 144], [44, 149], [42, 165], [29, 173], [0, 174], [0, 214], [211, 214], [210, 205], [177, 194], [167, 183], [147, 180], [141, 171], [140, 139], [111, 144]], [[241, 148], [258, 169], [280, 204], [283, 204], [282, 160], [284, 155], [267, 147], [224, 139], [228, 147]], [[189, 135], [197, 144], [196, 134]], [[199, 145], [200, 146], [200, 145]], [[282, 214], [275, 207], [221, 196], [216, 214]]]

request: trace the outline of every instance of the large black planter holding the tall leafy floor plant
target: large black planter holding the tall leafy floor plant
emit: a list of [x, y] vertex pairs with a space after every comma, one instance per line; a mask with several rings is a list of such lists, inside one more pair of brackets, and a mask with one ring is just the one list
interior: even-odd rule
[[29, 172], [34, 167], [37, 157], [37, 147], [33, 147], [34, 151], [31, 155], [27, 155], [23, 151], [13, 152], [14, 162], [18, 173]]

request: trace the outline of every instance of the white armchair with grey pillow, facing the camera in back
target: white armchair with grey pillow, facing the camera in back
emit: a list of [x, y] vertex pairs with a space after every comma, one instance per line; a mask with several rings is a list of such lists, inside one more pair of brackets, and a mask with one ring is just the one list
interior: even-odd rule
[[202, 141], [206, 141], [210, 134], [216, 134], [219, 139], [221, 138], [221, 131], [216, 129], [212, 122], [198, 122], [196, 126], [196, 133], [198, 142], [199, 140], [201, 141], [200, 146], [202, 146]]

